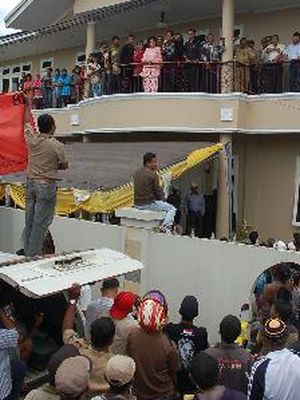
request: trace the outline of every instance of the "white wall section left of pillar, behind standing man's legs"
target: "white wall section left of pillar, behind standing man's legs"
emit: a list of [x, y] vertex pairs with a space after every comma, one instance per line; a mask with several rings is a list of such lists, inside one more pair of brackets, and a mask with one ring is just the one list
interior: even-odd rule
[[[0, 207], [0, 251], [15, 252], [22, 247], [24, 223], [23, 211]], [[118, 226], [55, 217], [51, 233], [58, 252], [101, 247], [124, 250], [125, 231]]]

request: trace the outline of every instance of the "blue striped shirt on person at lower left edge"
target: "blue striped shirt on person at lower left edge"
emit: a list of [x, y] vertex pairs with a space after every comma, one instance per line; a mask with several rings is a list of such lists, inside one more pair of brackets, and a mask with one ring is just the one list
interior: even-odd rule
[[15, 329], [0, 329], [0, 400], [5, 399], [12, 390], [8, 351], [17, 347], [18, 338]]

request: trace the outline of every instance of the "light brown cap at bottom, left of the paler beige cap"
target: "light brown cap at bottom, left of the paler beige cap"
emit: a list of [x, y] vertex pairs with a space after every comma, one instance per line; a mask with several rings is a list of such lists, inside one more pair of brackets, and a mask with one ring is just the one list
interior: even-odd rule
[[88, 389], [90, 369], [91, 364], [86, 357], [67, 358], [56, 372], [56, 390], [67, 396], [80, 396]]

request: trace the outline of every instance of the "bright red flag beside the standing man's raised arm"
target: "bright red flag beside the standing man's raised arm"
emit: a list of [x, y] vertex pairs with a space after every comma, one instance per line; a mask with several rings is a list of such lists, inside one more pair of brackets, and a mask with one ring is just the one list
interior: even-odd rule
[[27, 168], [24, 112], [21, 94], [0, 94], [0, 175]]

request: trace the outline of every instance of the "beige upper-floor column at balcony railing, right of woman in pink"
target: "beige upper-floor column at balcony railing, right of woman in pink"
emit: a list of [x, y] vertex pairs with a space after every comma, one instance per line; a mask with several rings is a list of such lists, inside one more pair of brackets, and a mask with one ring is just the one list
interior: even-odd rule
[[[222, 5], [222, 36], [225, 39], [225, 51], [222, 61], [233, 61], [233, 30], [234, 30], [234, 0], [223, 0]], [[233, 89], [233, 65], [222, 67], [222, 93], [230, 93]]]

